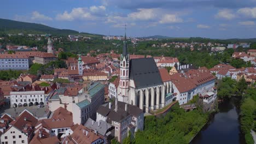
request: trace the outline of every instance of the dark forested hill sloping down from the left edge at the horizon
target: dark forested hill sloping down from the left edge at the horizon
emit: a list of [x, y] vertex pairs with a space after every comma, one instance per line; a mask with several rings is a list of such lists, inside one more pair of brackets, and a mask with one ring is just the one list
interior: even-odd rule
[[0, 31], [8, 33], [31, 33], [31, 34], [55, 34], [67, 35], [78, 34], [79, 32], [70, 29], [57, 29], [38, 23], [20, 22], [7, 19], [0, 19]]

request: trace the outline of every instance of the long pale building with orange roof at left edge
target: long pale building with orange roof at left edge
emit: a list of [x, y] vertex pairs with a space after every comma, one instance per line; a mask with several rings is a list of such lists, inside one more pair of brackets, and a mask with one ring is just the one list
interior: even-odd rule
[[0, 70], [28, 70], [29, 65], [27, 55], [0, 54]]

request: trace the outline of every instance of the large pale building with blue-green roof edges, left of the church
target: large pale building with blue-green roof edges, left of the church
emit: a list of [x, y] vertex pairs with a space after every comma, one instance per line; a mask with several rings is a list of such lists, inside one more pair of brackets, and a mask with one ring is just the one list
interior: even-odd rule
[[104, 85], [95, 82], [85, 87], [60, 87], [48, 103], [50, 111], [63, 107], [73, 113], [74, 124], [84, 124], [88, 118], [96, 119], [96, 110], [104, 103]]

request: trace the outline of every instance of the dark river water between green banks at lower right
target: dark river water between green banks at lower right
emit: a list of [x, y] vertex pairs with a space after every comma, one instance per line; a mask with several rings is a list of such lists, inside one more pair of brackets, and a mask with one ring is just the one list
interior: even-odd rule
[[239, 104], [237, 101], [232, 99], [219, 103], [219, 112], [211, 116], [210, 122], [190, 143], [245, 143], [244, 136], [240, 132], [239, 109], [236, 107]]

